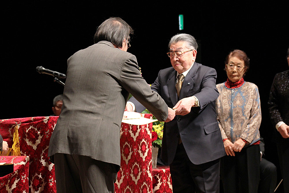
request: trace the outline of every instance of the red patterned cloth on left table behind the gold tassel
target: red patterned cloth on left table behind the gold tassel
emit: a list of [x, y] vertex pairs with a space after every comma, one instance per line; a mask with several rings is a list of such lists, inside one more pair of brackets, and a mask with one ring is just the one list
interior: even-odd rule
[[54, 164], [48, 161], [49, 140], [58, 117], [27, 117], [0, 120], [0, 133], [13, 144], [17, 124], [21, 155], [29, 156], [29, 192], [56, 192]]

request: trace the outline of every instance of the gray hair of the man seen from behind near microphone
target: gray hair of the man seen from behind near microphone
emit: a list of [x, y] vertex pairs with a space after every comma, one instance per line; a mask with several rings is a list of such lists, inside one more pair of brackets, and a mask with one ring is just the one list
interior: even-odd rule
[[129, 34], [133, 33], [134, 30], [121, 18], [110, 17], [97, 28], [94, 43], [105, 40], [117, 47], [123, 47], [123, 40], [127, 39], [129, 41]]

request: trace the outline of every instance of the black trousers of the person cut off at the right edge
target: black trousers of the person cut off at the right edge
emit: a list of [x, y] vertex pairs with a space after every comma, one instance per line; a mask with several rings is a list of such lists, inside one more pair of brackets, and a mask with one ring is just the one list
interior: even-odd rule
[[277, 150], [283, 178], [284, 193], [289, 193], [289, 138], [284, 139], [280, 137], [277, 141]]

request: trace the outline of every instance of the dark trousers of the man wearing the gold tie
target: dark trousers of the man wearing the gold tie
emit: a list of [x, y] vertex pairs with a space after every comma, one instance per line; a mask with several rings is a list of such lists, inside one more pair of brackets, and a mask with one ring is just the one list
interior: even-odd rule
[[177, 147], [170, 172], [174, 193], [220, 191], [220, 159], [195, 165], [188, 158], [182, 143]]

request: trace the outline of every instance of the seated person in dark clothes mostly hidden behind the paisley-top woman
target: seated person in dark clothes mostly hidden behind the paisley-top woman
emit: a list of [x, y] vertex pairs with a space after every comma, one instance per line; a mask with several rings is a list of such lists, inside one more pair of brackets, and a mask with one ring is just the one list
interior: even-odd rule
[[265, 144], [264, 139], [260, 139], [260, 182], [258, 187], [259, 193], [273, 193], [277, 183], [277, 168], [276, 166], [265, 159]]

